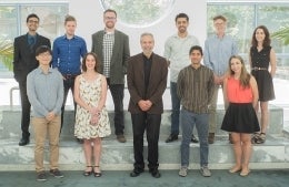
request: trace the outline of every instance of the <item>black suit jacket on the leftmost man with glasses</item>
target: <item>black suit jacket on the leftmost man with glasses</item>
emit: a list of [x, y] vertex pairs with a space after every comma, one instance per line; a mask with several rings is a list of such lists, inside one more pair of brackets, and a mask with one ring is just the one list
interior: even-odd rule
[[24, 82], [28, 73], [38, 67], [39, 64], [36, 60], [36, 49], [40, 45], [48, 45], [51, 48], [50, 40], [37, 34], [33, 50], [30, 50], [28, 34], [14, 39], [13, 72], [16, 81]]

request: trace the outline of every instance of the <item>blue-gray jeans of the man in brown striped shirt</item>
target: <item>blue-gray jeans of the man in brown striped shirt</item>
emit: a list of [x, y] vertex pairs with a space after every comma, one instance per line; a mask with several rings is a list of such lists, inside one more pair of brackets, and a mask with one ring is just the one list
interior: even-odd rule
[[196, 114], [186, 108], [181, 108], [180, 122], [182, 127], [181, 141], [181, 166], [189, 166], [190, 142], [193, 126], [196, 125], [200, 141], [200, 166], [208, 166], [209, 145], [209, 114]]

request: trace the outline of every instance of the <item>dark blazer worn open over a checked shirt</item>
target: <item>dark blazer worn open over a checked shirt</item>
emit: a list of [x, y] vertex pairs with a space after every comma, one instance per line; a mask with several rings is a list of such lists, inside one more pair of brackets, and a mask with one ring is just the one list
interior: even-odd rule
[[[103, 54], [102, 41], [104, 30], [92, 34], [92, 49], [99, 60], [98, 70], [103, 73]], [[127, 61], [130, 56], [129, 37], [118, 30], [114, 31], [114, 45], [112, 49], [112, 56], [110, 62], [110, 84], [124, 84], [124, 74], [127, 74]]]

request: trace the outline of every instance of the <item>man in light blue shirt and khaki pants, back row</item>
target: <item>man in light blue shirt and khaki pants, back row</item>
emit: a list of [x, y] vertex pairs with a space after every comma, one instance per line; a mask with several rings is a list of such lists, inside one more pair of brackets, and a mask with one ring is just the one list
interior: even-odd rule
[[[217, 128], [216, 110], [219, 87], [222, 87], [230, 56], [238, 53], [237, 43], [230, 35], [226, 34], [226, 25], [227, 19], [223, 15], [215, 17], [213, 27], [216, 34], [207, 39], [205, 42], [203, 63], [213, 71], [215, 76], [215, 92], [209, 108], [209, 144], [213, 144], [215, 142], [215, 133]], [[227, 105], [228, 104], [225, 103], [226, 108]]]

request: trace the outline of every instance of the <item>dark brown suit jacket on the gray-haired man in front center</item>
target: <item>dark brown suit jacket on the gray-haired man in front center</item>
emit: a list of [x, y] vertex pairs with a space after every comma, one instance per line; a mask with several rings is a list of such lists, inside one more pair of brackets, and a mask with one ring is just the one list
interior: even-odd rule
[[129, 112], [141, 113], [138, 102], [148, 98], [152, 102], [149, 114], [161, 114], [163, 112], [162, 94], [167, 87], [168, 65], [165, 58], [152, 53], [151, 72], [149, 85], [144, 86], [143, 54], [137, 54], [128, 61], [128, 89], [130, 93]]

